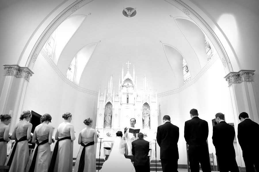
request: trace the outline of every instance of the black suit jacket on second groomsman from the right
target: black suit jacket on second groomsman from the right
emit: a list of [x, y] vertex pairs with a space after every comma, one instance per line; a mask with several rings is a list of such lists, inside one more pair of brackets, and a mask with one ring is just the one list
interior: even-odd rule
[[212, 141], [216, 148], [217, 156], [235, 158], [234, 139], [235, 129], [225, 121], [221, 121], [213, 127]]

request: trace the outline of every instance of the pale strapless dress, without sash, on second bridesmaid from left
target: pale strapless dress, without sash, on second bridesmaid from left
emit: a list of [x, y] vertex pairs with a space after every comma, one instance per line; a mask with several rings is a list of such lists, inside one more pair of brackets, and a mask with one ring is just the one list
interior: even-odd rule
[[[16, 133], [16, 139], [19, 140], [20, 138], [26, 136], [27, 137], [27, 130], [21, 131], [21, 132], [15, 132]], [[12, 163], [10, 165], [9, 172], [24, 172], [25, 167], [29, 160], [29, 146], [28, 146], [28, 140], [20, 141], [17, 144], [16, 150], [14, 152], [14, 157], [12, 160]], [[10, 155], [12, 154], [14, 150], [14, 147], [12, 148], [5, 165], [7, 165]]]

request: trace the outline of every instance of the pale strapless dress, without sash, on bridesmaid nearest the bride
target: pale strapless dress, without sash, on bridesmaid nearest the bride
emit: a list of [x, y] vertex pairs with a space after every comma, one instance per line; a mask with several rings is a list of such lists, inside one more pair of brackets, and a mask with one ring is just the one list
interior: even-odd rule
[[[82, 143], [84, 145], [94, 142], [94, 137], [82, 137]], [[79, 152], [77, 154], [77, 160], [75, 162], [75, 168], [74, 172], [81, 172], [78, 171], [79, 168], [79, 161], [81, 157], [81, 153], [83, 150], [84, 146], [80, 146]], [[84, 171], [82, 172], [95, 172], [96, 171], [96, 151], [94, 148], [94, 144], [91, 146], [85, 147], [85, 165], [84, 165]]]

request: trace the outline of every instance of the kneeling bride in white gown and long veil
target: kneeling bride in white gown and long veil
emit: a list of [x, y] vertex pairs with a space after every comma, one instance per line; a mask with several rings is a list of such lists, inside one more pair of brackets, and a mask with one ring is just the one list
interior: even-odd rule
[[117, 137], [113, 143], [108, 159], [103, 163], [100, 172], [136, 172], [130, 159], [125, 158], [125, 147], [122, 146], [122, 132], [116, 133]]

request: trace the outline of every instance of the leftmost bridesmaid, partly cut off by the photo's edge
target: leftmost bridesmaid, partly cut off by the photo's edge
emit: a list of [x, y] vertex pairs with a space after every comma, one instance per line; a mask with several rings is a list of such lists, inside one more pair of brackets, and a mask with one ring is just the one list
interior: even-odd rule
[[[11, 115], [0, 115], [0, 166], [5, 165], [7, 159], [7, 142], [9, 139], [9, 123]], [[1, 170], [0, 170], [1, 171]]]

